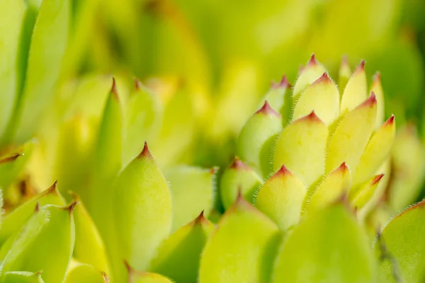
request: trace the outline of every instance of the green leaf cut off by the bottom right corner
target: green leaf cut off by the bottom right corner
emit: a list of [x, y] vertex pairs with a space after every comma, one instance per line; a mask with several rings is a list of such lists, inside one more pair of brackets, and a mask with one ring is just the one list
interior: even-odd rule
[[[375, 251], [380, 256], [378, 282], [425, 279], [425, 201], [405, 209], [385, 226]], [[394, 275], [399, 277], [396, 281]]]

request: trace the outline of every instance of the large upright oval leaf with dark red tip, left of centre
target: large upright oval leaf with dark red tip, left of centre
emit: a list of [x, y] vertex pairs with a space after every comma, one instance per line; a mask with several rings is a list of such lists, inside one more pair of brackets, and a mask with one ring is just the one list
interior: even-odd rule
[[113, 193], [118, 258], [125, 258], [137, 270], [146, 270], [169, 235], [172, 220], [169, 187], [146, 143], [118, 176]]

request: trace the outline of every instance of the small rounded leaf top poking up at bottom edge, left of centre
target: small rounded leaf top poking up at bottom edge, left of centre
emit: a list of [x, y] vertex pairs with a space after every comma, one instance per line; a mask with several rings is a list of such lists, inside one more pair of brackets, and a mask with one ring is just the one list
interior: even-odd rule
[[64, 283], [109, 283], [109, 278], [92, 265], [79, 263], [69, 268]]

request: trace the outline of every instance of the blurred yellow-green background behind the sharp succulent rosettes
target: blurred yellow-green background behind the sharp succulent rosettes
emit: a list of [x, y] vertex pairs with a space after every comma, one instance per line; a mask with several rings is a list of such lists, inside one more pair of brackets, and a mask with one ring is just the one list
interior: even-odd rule
[[[27, 2], [36, 16], [41, 1]], [[352, 69], [365, 59], [369, 82], [380, 71], [386, 117], [394, 113], [399, 132], [409, 137], [399, 150], [400, 159], [410, 158], [405, 161], [409, 165], [402, 160], [399, 164], [407, 168], [405, 177], [414, 178], [414, 186], [420, 187], [425, 141], [424, 1], [71, 2], [71, 16], [52, 15], [50, 37], [38, 39], [44, 40], [45, 50], [33, 76], [47, 83], [31, 92], [22, 79], [11, 115], [18, 118], [0, 127], [3, 149], [37, 137], [26, 172], [27, 185], [35, 190], [57, 178], [69, 188], [84, 183], [81, 164], [90, 159], [95, 135], [91, 129], [100, 120], [112, 76], [123, 104], [130, 97], [133, 78], [164, 104], [163, 126], [150, 146], [163, 167], [185, 163], [210, 168], [227, 166], [234, 158], [237, 134], [271, 81], [286, 75], [294, 83], [313, 53], [334, 78], [344, 56]], [[25, 38], [30, 38], [30, 31], [21, 36], [21, 54], [28, 57]], [[26, 67], [28, 62], [23, 61]], [[70, 120], [74, 122], [69, 124]], [[151, 137], [140, 134], [137, 139]]]

